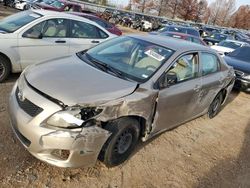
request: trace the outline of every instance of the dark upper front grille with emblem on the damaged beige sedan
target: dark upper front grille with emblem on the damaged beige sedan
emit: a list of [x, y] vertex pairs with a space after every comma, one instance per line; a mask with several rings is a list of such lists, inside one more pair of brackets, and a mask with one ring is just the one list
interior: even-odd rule
[[40, 114], [43, 109], [36, 106], [35, 104], [33, 104], [31, 101], [29, 101], [28, 99], [24, 99], [21, 100], [20, 96], [19, 96], [19, 88], [17, 87], [16, 89], [16, 100], [20, 106], [20, 108], [25, 111], [27, 114], [29, 114], [32, 117], [37, 116], [38, 114]]

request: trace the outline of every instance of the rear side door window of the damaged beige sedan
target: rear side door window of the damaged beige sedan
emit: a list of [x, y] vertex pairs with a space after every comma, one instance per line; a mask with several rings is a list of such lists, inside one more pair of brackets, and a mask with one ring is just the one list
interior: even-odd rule
[[201, 53], [202, 76], [217, 72], [219, 70], [219, 59], [210, 53]]

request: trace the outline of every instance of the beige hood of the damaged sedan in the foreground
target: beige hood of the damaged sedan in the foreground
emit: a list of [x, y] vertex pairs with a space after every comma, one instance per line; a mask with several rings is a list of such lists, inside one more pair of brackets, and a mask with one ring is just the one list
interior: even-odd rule
[[39, 63], [25, 71], [28, 83], [65, 105], [95, 105], [131, 94], [137, 83], [103, 72], [76, 55]]

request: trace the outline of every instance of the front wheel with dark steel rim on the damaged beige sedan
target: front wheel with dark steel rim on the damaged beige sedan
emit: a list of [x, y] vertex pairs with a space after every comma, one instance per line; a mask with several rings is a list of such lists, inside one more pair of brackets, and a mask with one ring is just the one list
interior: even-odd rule
[[120, 165], [128, 159], [139, 139], [140, 125], [136, 119], [120, 118], [105, 126], [112, 135], [104, 144], [99, 159], [107, 166]]

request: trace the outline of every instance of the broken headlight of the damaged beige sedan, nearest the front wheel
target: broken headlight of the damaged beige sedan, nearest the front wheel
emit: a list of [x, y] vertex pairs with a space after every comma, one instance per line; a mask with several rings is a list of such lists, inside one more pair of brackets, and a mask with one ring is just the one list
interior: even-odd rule
[[61, 128], [79, 128], [85, 126], [87, 121], [97, 116], [102, 109], [95, 107], [69, 107], [53, 114], [46, 122], [49, 126]]

